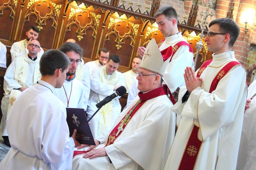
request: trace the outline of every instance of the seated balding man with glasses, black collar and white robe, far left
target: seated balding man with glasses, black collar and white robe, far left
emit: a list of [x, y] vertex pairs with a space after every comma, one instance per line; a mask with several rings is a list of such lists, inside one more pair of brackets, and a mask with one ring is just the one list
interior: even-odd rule
[[3, 117], [0, 124], [0, 133], [4, 143], [10, 146], [6, 131], [6, 119], [8, 118], [16, 98], [27, 88], [34, 85], [41, 78], [39, 61], [41, 56], [40, 43], [31, 40], [27, 46], [28, 53], [22, 57], [14, 58], [4, 75], [4, 97], [1, 103]]

